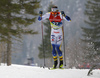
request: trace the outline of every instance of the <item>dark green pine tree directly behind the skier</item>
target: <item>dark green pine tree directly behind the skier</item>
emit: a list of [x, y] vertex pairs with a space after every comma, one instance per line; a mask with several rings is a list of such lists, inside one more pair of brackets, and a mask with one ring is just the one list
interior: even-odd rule
[[[52, 3], [50, 3], [49, 7], [48, 7], [48, 12], [51, 11], [51, 7], [53, 6]], [[50, 33], [51, 33], [51, 26], [50, 26], [50, 22], [47, 19], [46, 23], [44, 23], [44, 28], [45, 28], [45, 35], [43, 36], [43, 41], [44, 41], [44, 53], [45, 53], [45, 57], [46, 58], [51, 58], [52, 57], [52, 50], [51, 50], [51, 42], [50, 42]], [[38, 47], [39, 49], [39, 58], [44, 58], [43, 57], [43, 44], [40, 44], [40, 46]]]

